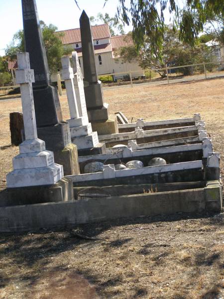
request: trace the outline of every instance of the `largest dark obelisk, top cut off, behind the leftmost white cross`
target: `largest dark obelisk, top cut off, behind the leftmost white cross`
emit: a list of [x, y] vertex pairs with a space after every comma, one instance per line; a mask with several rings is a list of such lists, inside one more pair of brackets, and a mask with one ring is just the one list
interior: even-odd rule
[[55, 161], [63, 165], [66, 175], [77, 174], [77, 148], [71, 144], [69, 125], [62, 121], [57, 89], [51, 85], [35, 0], [22, 0], [22, 16], [25, 51], [29, 53], [30, 67], [34, 70], [33, 98], [38, 138], [54, 152]]

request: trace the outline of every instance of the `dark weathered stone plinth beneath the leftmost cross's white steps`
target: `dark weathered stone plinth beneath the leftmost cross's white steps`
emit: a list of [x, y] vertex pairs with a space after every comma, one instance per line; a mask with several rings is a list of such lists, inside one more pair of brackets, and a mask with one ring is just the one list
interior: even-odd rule
[[0, 206], [61, 202], [74, 199], [71, 179], [62, 178], [52, 185], [7, 188], [0, 192]]

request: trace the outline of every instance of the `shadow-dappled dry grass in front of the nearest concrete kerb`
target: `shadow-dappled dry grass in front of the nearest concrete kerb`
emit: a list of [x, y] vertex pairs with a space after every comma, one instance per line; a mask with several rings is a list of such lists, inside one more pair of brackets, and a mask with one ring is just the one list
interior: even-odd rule
[[218, 232], [224, 215], [193, 217], [79, 227], [107, 241], [80, 240], [69, 230], [4, 234], [0, 298], [223, 298], [224, 244]]

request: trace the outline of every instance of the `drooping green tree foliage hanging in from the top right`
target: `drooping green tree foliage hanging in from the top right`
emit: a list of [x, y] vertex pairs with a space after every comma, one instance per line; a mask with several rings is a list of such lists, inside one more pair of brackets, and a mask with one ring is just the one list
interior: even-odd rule
[[187, 0], [183, 9], [177, 0], [118, 0], [117, 17], [127, 25], [131, 19], [137, 52], [147, 36], [151, 40], [151, 53], [161, 59], [166, 8], [174, 16], [173, 29], [178, 29], [180, 39], [191, 46], [196, 44], [209, 15], [224, 17], [224, 0]]

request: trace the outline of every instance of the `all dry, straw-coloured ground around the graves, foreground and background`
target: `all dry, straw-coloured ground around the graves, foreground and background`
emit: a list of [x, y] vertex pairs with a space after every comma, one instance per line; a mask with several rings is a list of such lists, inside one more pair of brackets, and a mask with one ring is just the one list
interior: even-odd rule
[[[224, 176], [224, 79], [104, 91], [111, 112], [162, 120], [201, 113]], [[68, 119], [66, 97], [61, 97]], [[0, 188], [17, 147], [0, 101]], [[224, 299], [224, 214], [120, 219], [22, 234], [0, 234], [0, 299]], [[102, 238], [102, 239], [101, 239]]]

